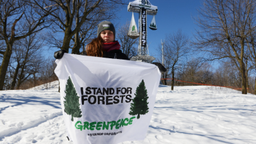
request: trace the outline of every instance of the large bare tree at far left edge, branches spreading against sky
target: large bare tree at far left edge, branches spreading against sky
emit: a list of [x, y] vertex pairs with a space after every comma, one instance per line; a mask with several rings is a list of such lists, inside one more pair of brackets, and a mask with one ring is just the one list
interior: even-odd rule
[[[2, 91], [14, 42], [49, 25], [45, 19], [48, 14], [36, 12], [33, 5], [28, 5], [23, 0], [1, 0], [0, 9], [0, 39], [6, 43], [6, 49], [0, 51], [3, 55], [0, 69], [0, 91]], [[52, 9], [50, 8], [49, 11], [52, 12]]]

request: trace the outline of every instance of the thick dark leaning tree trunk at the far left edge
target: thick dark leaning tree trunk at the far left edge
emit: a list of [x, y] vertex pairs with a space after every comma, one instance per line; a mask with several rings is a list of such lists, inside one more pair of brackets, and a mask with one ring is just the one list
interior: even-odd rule
[[6, 80], [6, 72], [8, 69], [8, 64], [10, 62], [10, 57], [12, 55], [12, 45], [6, 47], [6, 52], [3, 55], [3, 62], [0, 69], [0, 91], [3, 91], [4, 81]]

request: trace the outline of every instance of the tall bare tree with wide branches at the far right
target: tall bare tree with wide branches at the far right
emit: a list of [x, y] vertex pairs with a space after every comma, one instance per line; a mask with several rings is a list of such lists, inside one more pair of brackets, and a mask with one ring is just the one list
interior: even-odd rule
[[[231, 58], [242, 73], [242, 93], [246, 94], [244, 53], [249, 19], [255, 19], [255, 0], [205, 0], [195, 19], [198, 48], [210, 54], [209, 60]], [[255, 25], [252, 29], [255, 29]]]

